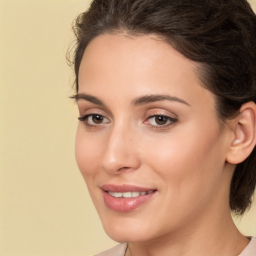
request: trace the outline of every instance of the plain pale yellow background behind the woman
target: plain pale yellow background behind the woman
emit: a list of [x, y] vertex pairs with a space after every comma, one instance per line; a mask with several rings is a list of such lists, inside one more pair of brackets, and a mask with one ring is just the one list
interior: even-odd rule
[[[254, 10], [256, 0], [251, 0]], [[104, 233], [74, 158], [65, 52], [88, 0], [0, 0], [0, 255], [89, 255]], [[256, 236], [256, 202], [239, 229]]]

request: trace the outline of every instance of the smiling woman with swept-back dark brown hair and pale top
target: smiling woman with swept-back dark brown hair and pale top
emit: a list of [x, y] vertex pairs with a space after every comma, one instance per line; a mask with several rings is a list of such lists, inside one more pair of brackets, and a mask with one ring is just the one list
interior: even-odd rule
[[74, 25], [75, 155], [97, 255], [256, 255], [256, 17], [245, 0], [94, 0]]

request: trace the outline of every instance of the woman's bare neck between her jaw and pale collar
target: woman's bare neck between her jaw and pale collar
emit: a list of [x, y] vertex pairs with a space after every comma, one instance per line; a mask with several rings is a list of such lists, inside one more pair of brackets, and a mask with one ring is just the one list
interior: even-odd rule
[[249, 240], [236, 228], [229, 209], [217, 216], [210, 214], [203, 221], [199, 216], [178, 231], [150, 241], [129, 243], [125, 256], [237, 256]]

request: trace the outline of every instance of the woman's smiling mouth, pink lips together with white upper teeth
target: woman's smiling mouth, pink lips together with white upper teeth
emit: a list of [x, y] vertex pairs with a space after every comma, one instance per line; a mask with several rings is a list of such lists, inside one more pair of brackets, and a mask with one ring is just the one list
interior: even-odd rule
[[132, 211], [149, 201], [157, 193], [156, 189], [142, 188], [130, 185], [101, 186], [105, 205], [114, 211]]

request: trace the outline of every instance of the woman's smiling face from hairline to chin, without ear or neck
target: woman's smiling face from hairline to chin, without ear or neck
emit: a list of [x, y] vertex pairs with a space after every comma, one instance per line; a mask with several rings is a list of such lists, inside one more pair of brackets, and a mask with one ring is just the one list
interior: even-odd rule
[[86, 47], [75, 155], [116, 241], [171, 235], [228, 206], [230, 136], [195, 69], [153, 35], [104, 34]]

